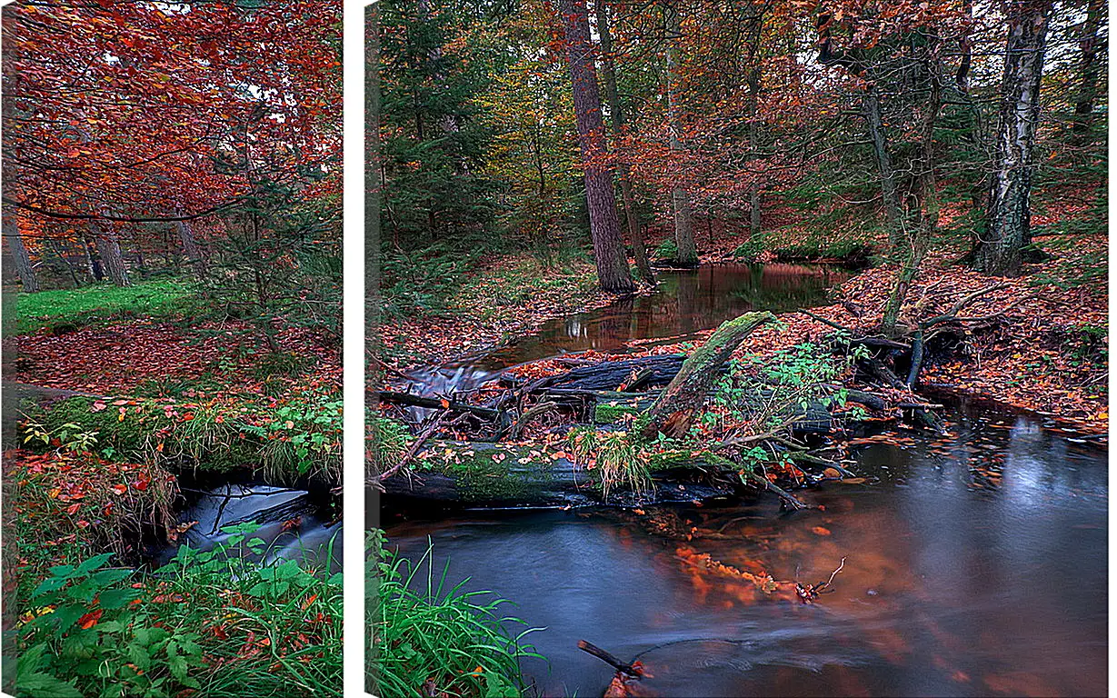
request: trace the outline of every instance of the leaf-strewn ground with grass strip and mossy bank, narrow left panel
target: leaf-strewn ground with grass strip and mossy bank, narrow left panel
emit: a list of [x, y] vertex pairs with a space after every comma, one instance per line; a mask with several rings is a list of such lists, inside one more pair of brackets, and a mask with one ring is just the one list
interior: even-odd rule
[[[340, 478], [341, 356], [321, 332], [280, 328], [270, 352], [250, 324], [208, 318], [182, 284], [165, 281], [20, 296], [17, 313], [12, 377], [31, 386], [27, 398], [46, 389], [45, 407], [23, 409], [44, 430], [70, 424], [98, 450], [141, 461], [173, 443], [201, 469], [270, 462], [288, 482], [308, 471]], [[308, 432], [315, 448], [293, 458]]]

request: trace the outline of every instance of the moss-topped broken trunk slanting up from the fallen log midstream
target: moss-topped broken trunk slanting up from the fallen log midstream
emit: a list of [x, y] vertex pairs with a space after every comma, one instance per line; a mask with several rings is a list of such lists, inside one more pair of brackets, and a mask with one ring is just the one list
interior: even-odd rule
[[659, 433], [670, 437], [685, 432], [690, 427], [694, 413], [706, 403], [722, 365], [754, 329], [775, 321], [775, 315], [764, 312], [745, 313], [736, 319], [722, 323], [706, 343], [682, 363], [679, 373], [645, 413], [641, 436], [650, 440]]

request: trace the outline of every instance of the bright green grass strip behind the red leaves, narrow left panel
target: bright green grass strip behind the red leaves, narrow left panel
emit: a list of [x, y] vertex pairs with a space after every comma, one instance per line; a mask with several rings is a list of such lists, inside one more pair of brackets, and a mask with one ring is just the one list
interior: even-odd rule
[[169, 317], [183, 310], [191, 294], [191, 285], [178, 279], [20, 294], [16, 332], [30, 334], [42, 327], [61, 331], [126, 317]]

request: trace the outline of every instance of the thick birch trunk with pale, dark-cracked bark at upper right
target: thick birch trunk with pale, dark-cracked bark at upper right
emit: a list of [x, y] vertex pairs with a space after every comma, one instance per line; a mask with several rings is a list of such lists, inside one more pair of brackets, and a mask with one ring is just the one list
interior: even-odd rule
[[1001, 87], [997, 168], [993, 172], [985, 232], [977, 240], [975, 267], [995, 276], [1020, 274], [1031, 245], [1032, 150], [1040, 117], [1040, 79], [1052, 0], [1014, 0]]

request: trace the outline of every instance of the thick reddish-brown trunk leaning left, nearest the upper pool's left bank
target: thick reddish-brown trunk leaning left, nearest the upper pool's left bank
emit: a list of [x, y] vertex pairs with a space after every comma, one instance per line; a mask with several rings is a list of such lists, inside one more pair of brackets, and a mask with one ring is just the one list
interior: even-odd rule
[[560, 0], [558, 12], [566, 35], [566, 57], [574, 94], [577, 142], [585, 170], [585, 202], [590, 213], [590, 235], [593, 238], [598, 280], [603, 290], [630, 293], [636, 290], [636, 285], [629, 275], [620, 219], [617, 216], [613, 174], [608, 164], [609, 150], [605, 146], [601, 95], [593, 65], [585, 0]]

